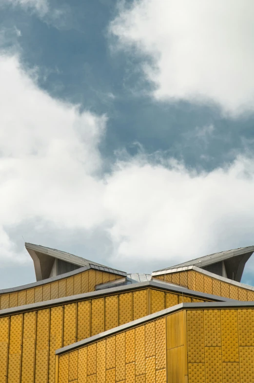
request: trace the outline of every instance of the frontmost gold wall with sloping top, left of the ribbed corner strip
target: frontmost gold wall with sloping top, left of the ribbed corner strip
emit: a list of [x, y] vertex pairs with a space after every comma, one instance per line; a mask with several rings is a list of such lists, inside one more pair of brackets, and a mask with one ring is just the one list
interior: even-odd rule
[[166, 383], [166, 318], [59, 357], [59, 383]]

